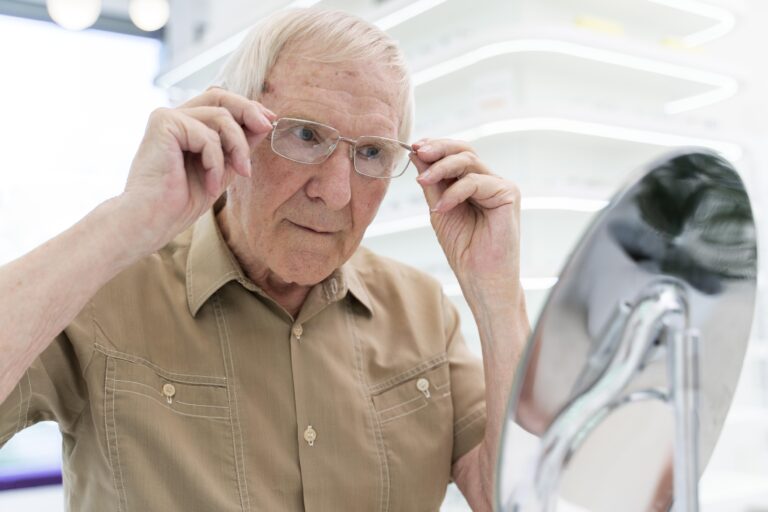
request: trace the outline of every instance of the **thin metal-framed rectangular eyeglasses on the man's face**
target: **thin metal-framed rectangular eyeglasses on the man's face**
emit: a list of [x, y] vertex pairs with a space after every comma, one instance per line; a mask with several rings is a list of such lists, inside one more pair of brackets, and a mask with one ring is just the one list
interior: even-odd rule
[[336, 128], [324, 124], [283, 117], [272, 123], [272, 151], [300, 164], [321, 164], [336, 150], [339, 142], [349, 144], [349, 158], [363, 176], [391, 179], [408, 168], [413, 148], [399, 140], [365, 136], [342, 137]]

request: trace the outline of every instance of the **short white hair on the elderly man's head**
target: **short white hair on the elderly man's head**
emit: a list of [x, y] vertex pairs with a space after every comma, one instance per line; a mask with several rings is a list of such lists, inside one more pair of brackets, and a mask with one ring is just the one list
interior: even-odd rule
[[286, 46], [324, 63], [377, 60], [392, 70], [399, 87], [398, 138], [408, 141], [413, 129], [413, 87], [405, 57], [384, 31], [336, 10], [288, 9], [272, 14], [251, 29], [216, 79], [225, 89], [258, 100], [272, 66]]

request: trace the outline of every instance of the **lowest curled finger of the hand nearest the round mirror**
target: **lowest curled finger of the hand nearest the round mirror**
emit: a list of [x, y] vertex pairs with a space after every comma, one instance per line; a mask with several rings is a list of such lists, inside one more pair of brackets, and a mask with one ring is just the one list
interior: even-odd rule
[[519, 191], [514, 184], [498, 176], [468, 174], [445, 189], [435, 204], [435, 212], [445, 213], [457, 205], [471, 201], [486, 209], [519, 204]]

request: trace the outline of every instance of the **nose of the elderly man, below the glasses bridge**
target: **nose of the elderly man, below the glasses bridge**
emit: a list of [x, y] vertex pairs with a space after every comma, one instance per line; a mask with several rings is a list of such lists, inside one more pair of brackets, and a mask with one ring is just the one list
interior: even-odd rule
[[345, 144], [339, 143], [336, 150], [322, 164], [307, 183], [307, 195], [322, 200], [330, 210], [341, 210], [352, 199], [352, 175], [354, 166]]

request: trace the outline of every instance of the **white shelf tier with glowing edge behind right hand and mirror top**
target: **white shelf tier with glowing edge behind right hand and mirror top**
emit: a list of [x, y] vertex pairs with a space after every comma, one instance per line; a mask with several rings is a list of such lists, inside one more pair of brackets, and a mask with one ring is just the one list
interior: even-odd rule
[[[549, 198], [549, 208], [599, 209], [639, 169], [676, 147], [709, 145], [732, 161], [741, 156], [741, 147], [728, 141], [580, 119], [510, 118], [464, 132], [427, 133], [468, 140], [492, 172], [518, 186], [524, 209], [534, 198]], [[567, 163], [563, 155], [568, 155]], [[428, 225], [415, 176], [411, 167], [391, 182], [370, 236]]]

